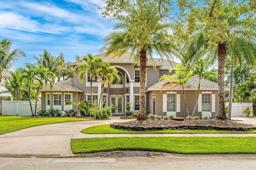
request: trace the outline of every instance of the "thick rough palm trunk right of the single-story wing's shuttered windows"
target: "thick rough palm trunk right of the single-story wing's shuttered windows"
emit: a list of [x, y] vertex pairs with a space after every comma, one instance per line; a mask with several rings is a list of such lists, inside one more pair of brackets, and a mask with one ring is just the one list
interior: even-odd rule
[[216, 119], [226, 119], [225, 112], [225, 92], [224, 92], [224, 76], [225, 76], [225, 58], [227, 54], [226, 42], [218, 43], [218, 90], [219, 90], [219, 109]]

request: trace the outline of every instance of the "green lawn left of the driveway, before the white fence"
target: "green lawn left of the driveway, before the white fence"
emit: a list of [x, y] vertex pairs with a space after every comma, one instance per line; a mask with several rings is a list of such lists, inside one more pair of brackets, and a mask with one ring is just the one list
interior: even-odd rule
[[69, 121], [87, 121], [92, 119], [79, 119], [74, 117], [56, 118], [21, 118], [20, 116], [0, 116], [0, 134], [18, 131], [28, 127], [46, 125], [52, 123], [62, 123]]

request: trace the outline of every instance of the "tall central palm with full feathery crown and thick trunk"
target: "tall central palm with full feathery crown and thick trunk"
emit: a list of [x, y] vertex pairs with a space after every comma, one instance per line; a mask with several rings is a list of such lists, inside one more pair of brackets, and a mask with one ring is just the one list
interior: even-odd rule
[[153, 51], [173, 61], [173, 45], [168, 39], [170, 25], [162, 23], [162, 17], [152, 8], [133, 9], [126, 16], [116, 15], [112, 20], [120, 21], [114, 26], [118, 31], [105, 37], [105, 44], [100, 51], [106, 51], [106, 55], [113, 58], [121, 57], [128, 51], [134, 54], [130, 57], [140, 66], [140, 115], [137, 119], [145, 120], [146, 64], [148, 59], [154, 64]]

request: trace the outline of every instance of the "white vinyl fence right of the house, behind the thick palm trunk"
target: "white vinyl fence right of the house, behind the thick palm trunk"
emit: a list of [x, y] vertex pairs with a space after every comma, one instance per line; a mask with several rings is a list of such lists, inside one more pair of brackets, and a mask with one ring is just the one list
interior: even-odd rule
[[[228, 102], [225, 103], [225, 106], [228, 106]], [[246, 115], [243, 114], [243, 111], [247, 107], [249, 107], [252, 111], [252, 103], [232, 103], [231, 117], [246, 117]], [[250, 113], [249, 117], [252, 117], [252, 112]]]

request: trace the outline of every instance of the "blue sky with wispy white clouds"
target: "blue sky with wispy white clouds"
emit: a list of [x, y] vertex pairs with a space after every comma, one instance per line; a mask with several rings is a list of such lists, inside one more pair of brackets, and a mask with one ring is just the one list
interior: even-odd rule
[[44, 49], [54, 56], [64, 53], [66, 61], [74, 61], [75, 55], [98, 54], [114, 24], [102, 18], [98, 7], [104, 4], [104, 0], [0, 0], [0, 39], [12, 39], [12, 49], [27, 54], [13, 68], [35, 63], [33, 57]]

